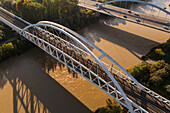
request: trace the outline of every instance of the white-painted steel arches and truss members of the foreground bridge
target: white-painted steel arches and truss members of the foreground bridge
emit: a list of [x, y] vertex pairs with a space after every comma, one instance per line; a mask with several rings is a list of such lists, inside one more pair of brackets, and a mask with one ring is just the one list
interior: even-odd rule
[[[15, 15], [14, 15], [15, 16]], [[17, 17], [17, 16], [16, 16]], [[65, 64], [67, 67], [69, 67], [70, 69], [72, 69], [73, 71], [75, 71], [76, 73], [78, 73], [79, 75], [83, 76], [85, 79], [87, 79], [88, 81], [90, 81], [91, 83], [93, 83], [95, 86], [97, 86], [98, 88], [100, 88], [102, 91], [104, 91], [105, 93], [107, 93], [108, 95], [110, 95], [112, 98], [114, 98], [115, 100], [117, 100], [120, 104], [122, 104], [123, 106], [127, 107], [130, 112], [135, 112], [135, 111], [140, 111], [140, 112], [147, 112], [146, 110], [144, 110], [143, 108], [141, 108], [140, 106], [138, 106], [137, 104], [135, 104], [134, 102], [132, 102], [129, 98], [126, 97], [124, 91], [121, 89], [121, 87], [119, 86], [119, 84], [117, 83], [117, 81], [115, 80], [115, 78], [112, 76], [112, 74], [110, 73], [110, 71], [106, 68], [106, 66], [108, 66], [111, 70], [112, 73], [114, 74], [120, 74], [120, 76], [122, 79], [126, 80], [127, 82], [134, 84], [135, 86], [138, 86], [139, 88], [141, 88], [143, 91], [145, 91], [146, 93], [151, 94], [152, 96], [154, 96], [155, 98], [161, 98], [159, 99], [162, 102], [165, 102], [169, 105], [169, 100], [161, 97], [160, 95], [156, 94], [155, 92], [151, 91], [150, 89], [144, 87], [143, 85], [141, 85], [132, 75], [130, 75], [122, 66], [120, 66], [114, 59], [112, 59], [109, 55], [107, 55], [104, 51], [102, 51], [100, 48], [98, 48], [96, 45], [94, 45], [93, 43], [91, 43], [90, 41], [88, 41], [86, 38], [82, 37], [81, 35], [77, 34], [76, 32], [53, 22], [48, 22], [48, 21], [41, 21], [37, 24], [29, 24], [29, 26], [25, 27], [24, 29], [20, 29], [17, 26], [13, 25], [12, 23], [6, 21], [4, 18], [0, 17], [0, 20], [5, 23], [6, 25], [8, 25], [9, 27], [11, 27], [12, 29], [14, 29], [16, 32], [20, 33], [20, 35], [24, 36], [26, 39], [28, 39], [29, 41], [31, 41], [32, 43], [34, 43], [35, 45], [37, 45], [38, 47], [40, 47], [41, 49], [43, 49], [44, 51], [46, 51], [48, 54], [50, 54], [51, 56], [53, 56], [54, 58], [56, 58], [57, 60], [59, 60], [60, 62], [62, 62], [63, 64]], [[20, 19], [22, 21], [22, 19]], [[24, 21], [23, 21], [24, 22]], [[27, 23], [27, 22], [26, 22]], [[102, 79], [101, 77], [99, 77], [97, 74], [95, 74], [94, 72], [92, 72], [90, 70], [90, 68], [88, 69], [86, 66], [82, 65], [79, 61], [75, 60], [74, 58], [70, 57], [68, 54], [64, 53], [63, 51], [61, 51], [60, 49], [56, 48], [55, 46], [53, 46], [52, 44], [50, 44], [50, 42], [47, 42], [45, 40], [42, 40], [41, 38], [29, 33], [27, 31], [28, 28], [36, 28], [38, 29], [40, 26], [44, 26], [44, 27], [50, 27], [52, 29], [55, 29], [57, 31], [60, 31], [62, 33], [64, 33], [66, 36], [70, 37], [72, 40], [74, 40], [77, 44], [79, 44], [81, 47], [83, 47], [82, 50], [78, 47], [77, 48], [79, 51], [90, 55], [91, 57], [93, 57], [93, 59], [95, 60], [96, 63], [98, 63], [103, 70], [107, 73], [107, 75], [109, 76], [109, 78], [112, 80], [110, 82], [106, 82], [104, 79]], [[48, 32], [46, 32], [48, 33]], [[53, 34], [54, 35], [54, 34]], [[54, 35], [55, 36], [55, 35]], [[55, 36], [55, 38], [58, 38], [60, 40], [62, 40], [60, 37]], [[100, 53], [102, 53], [101, 57], [96, 57], [79, 39], [85, 41], [86, 43], [88, 43], [89, 45], [91, 45], [92, 47], [94, 47], [95, 49], [97, 49]], [[63, 40], [64, 41], [64, 40]], [[64, 41], [65, 43], [67, 43], [68, 45], [72, 45], [69, 42]], [[62, 53], [61, 56], [58, 56], [58, 52]], [[102, 59], [103, 57], [107, 57], [110, 61], [112, 61], [113, 64], [115, 64], [116, 66], [118, 66], [120, 68], [122, 72], [114, 69], [112, 66], [109, 66], [107, 64], [105, 64], [104, 62], [102, 62], [100, 59]], [[64, 60], [61, 60], [61, 57], [64, 58]], [[68, 57], [69, 61], [71, 61], [71, 66], [68, 65], [68, 62], [65, 60], [65, 58]], [[78, 66], [80, 66], [80, 72], [76, 70], [76, 67], [74, 67], [74, 63], [77, 63]], [[105, 66], [106, 65], [106, 66]], [[86, 73], [83, 73], [82, 68], [86, 69]], [[88, 78], [85, 77], [85, 75], [88, 75]], [[98, 84], [95, 83], [95, 80], [92, 80], [92, 75], [96, 77]], [[105, 83], [103, 86], [101, 86], [101, 82]], [[113, 83], [115, 86], [111, 86], [110, 83]], [[107, 86], [107, 90], [104, 90], [103, 88]], [[118, 89], [116, 89], [116, 88]], [[111, 90], [111, 92], [110, 92]], [[113, 96], [113, 94], [115, 94], [116, 96]], [[121, 97], [119, 97], [121, 96]], [[124, 100], [124, 101], [122, 101]], [[132, 108], [132, 105], [136, 107], [136, 109]]]

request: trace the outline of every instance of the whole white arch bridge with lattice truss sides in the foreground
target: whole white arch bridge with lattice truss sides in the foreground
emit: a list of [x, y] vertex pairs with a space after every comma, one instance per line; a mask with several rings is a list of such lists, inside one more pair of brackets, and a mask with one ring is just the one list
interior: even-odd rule
[[[2, 8], [0, 21], [107, 93], [129, 112], [169, 112], [169, 100], [141, 85], [114, 59], [76, 32], [48, 21], [30, 24]], [[96, 49], [99, 55], [91, 49]], [[103, 58], [110, 65], [104, 63]]]

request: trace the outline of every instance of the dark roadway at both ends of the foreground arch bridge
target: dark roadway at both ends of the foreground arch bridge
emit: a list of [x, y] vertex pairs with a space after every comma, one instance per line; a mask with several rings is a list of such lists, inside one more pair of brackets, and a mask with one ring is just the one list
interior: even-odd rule
[[[26, 23], [15, 18], [14, 16], [10, 15], [9, 13], [4, 12], [3, 10], [0, 10], [0, 16], [2, 18], [6, 19], [7, 21], [9, 21], [11, 24], [14, 24], [21, 29], [27, 26]], [[45, 39], [45, 40], [48, 41], [48, 39]], [[79, 58], [79, 57], [75, 57], [75, 59], [76, 58]], [[86, 65], [86, 64], [84, 64], [84, 65]], [[95, 69], [92, 69], [92, 70], [94, 71]], [[101, 70], [101, 72], [102, 72], [102, 70]], [[120, 86], [122, 87], [124, 92], [126, 93], [127, 97], [130, 98], [133, 102], [142, 106], [145, 110], [149, 111], [150, 113], [169, 113], [170, 112], [169, 106], [166, 106], [164, 103], [160, 102], [159, 100], [155, 99], [154, 97], [150, 96], [149, 94], [146, 94], [145, 92], [141, 91], [139, 88], [120, 79], [119, 77], [117, 78], [115, 76], [115, 78], [117, 79], [118, 83], [120, 84]]]

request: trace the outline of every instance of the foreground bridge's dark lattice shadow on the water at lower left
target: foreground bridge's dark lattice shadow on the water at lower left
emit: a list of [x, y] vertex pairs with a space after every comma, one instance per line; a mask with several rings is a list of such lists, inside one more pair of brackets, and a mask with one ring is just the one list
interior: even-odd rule
[[[14, 113], [91, 113], [50, 75], [42, 71], [49, 59], [39, 60], [43, 51], [39, 52], [37, 48], [33, 54], [36, 53], [38, 55], [33, 55], [34, 57], [26, 53], [0, 65], [0, 90], [3, 90], [9, 81], [13, 89]], [[48, 69], [54, 69], [55, 66], [56, 64], [52, 62]], [[62, 65], [60, 67], [62, 68]]]

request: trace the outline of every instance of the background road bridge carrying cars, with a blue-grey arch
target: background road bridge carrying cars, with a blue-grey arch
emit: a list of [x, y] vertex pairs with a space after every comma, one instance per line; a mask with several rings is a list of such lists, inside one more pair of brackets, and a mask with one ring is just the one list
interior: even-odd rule
[[[79, 6], [109, 16], [170, 33], [170, 12], [166, 7], [140, 0], [79, 0]], [[140, 7], [139, 7], [140, 5]]]

